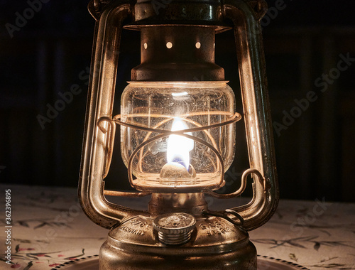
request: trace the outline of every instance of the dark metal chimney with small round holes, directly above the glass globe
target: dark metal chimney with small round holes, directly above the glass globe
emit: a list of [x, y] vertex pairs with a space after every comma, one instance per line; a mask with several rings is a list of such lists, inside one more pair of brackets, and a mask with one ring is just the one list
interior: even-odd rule
[[132, 69], [132, 81], [196, 81], [201, 78], [224, 80], [224, 69], [214, 63], [214, 27], [141, 28], [141, 65]]

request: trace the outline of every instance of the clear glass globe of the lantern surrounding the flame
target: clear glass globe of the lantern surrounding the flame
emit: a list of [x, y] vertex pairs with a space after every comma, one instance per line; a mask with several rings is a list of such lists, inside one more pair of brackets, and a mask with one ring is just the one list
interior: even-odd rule
[[[121, 126], [121, 156], [129, 166], [133, 154], [131, 184], [160, 193], [219, 188], [234, 159], [235, 124], [212, 125], [234, 110], [226, 82], [130, 82], [121, 97], [121, 121], [131, 125]], [[185, 129], [192, 131], [163, 133]]]

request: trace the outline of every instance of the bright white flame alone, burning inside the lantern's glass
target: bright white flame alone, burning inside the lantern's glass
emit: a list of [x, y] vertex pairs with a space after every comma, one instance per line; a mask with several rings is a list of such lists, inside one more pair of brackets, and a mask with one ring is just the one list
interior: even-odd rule
[[[171, 131], [178, 131], [187, 129], [186, 124], [179, 118], [175, 118]], [[191, 132], [187, 132], [192, 135]], [[194, 141], [180, 135], [170, 135], [168, 138], [168, 148], [166, 151], [166, 158], [168, 163], [182, 163], [185, 168], [189, 168], [190, 151], [194, 148]]]

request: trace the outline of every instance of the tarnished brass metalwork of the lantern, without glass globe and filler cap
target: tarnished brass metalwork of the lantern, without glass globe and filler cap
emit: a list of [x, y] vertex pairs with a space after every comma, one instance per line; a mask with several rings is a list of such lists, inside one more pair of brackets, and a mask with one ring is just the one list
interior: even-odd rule
[[[93, 0], [89, 3], [89, 11], [97, 23], [87, 99], [79, 197], [88, 217], [98, 225], [110, 229], [107, 242], [100, 250], [100, 269], [255, 270], [256, 249], [249, 242], [247, 231], [267, 222], [278, 204], [272, 122], [259, 23], [266, 12], [266, 3], [261, 0], [224, 0], [223, 3], [219, 0], [176, 0], [166, 4], [165, 9], [160, 9], [157, 13], [153, 2]], [[204, 200], [204, 193], [174, 193], [174, 190], [171, 190], [171, 193], [153, 192], [148, 211], [115, 205], [105, 198], [105, 195], [147, 195], [104, 190], [104, 175], [107, 174], [109, 156], [113, 150], [114, 127], [109, 121], [102, 122], [102, 125], [98, 121], [103, 117], [112, 119], [119, 43], [124, 23], [126, 28], [142, 31], [142, 64], [146, 64], [136, 68], [132, 77], [133, 80], [143, 81], [158, 80], [159, 72], [148, 71], [154, 67], [155, 60], [158, 60], [159, 65], [163, 63], [171, 67], [172, 63], [177, 62], [178, 55], [187, 48], [187, 45], [182, 45], [175, 52], [176, 55], [170, 53], [173, 60], [169, 60], [166, 58], [169, 52], [162, 55], [155, 49], [148, 52], [149, 47], [144, 48], [144, 43], [151, 42], [151, 36], [162, 41], [159, 37], [162, 33], [176, 38], [186, 29], [191, 30], [187, 40], [195, 41], [194, 38], [203, 33], [202, 38], [208, 46], [202, 48], [201, 43], [201, 54], [195, 55], [190, 51], [182, 62], [190, 61], [192, 70], [202, 67], [206, 80], [224, 80], [223, 69], [214, 65], [212, 43], [214, 33], [233, 28], [251, 167], [251, 171], [246, 171], [246, 175], [251, 173], [257, 176], [253, 181], [251, 202], [234, 207], [230, 211], [237, 215], [228, 215], [228, 212], [224, 211], [211, 215]], [[149, 46], [149, 43], [147, 45]], [[151, 54], [155, 54], [155, 58], [151, 58]], [[204, 68], [207, 66], [209, 68]], [[162, 68], [166, 68], [166, 65], [160, 66], [159, 70]], [[198, 71], [189, 74], [183, 67], [180, 70], [182, 72], [177, 73], [180, 80], [194, 80], [194, 76], [198, 74]], [[161, 80], [173, 80], [173, 76], [168, 74]], [[236, 193], [215, 197], [229, 198], [239, 195], [244, 190], [245, 183], [246, 176]], [[196, 225], [187, 243], [170, 246], [159, 241], [153, 220], [158, 215], [174, 212], [193, 215]], [[202, 213], [209, 213], [209, 216]]]

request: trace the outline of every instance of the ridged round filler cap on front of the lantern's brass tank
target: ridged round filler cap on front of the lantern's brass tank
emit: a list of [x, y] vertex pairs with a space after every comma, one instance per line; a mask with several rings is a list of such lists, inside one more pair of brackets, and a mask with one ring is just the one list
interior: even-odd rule
[[153, 220], [163, 244], [185, 244], [190, 240], [195, 224], [194, 216], [181, 212], [160, 215]]

